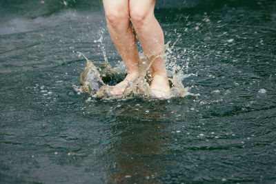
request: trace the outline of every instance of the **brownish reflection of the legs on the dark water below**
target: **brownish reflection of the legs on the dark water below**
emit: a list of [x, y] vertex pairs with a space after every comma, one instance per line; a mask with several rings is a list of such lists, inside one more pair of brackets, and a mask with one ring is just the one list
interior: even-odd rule
[[[108, 154], [114, 165], [110, 169], [108, 183], [156, 183], [161, 176], [164, 162], [160, 156], [166, 153], [164, 129], [170, 114], [166, 112], [166, 102], [161, 105], [151, 104], [148, 114], [140, 110], [130, 112], [128, 107], [117, 116], [116, 125], [112, 127], [112, 145]], [[144, 107], [142, 108], [144, 109]], [[144, 121], [141, 121], [144, 116]], [[139, 119], [138, 119], [139, 118]]]

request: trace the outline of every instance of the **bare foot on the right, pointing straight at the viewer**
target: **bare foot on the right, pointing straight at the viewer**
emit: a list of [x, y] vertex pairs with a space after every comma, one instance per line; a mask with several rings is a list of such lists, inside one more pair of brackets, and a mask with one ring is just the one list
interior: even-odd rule
[[170, 96], [170, 84], [168, 83], [167, 75], [154, 74], [150, 83], [152, 96], [159, 99], [166, 99]]

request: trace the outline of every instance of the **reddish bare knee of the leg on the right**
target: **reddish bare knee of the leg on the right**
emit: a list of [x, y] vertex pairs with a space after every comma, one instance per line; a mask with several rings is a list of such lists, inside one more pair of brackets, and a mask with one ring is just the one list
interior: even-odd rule
[[143, 28], [149, 17], [150, 14], [148, 12], [141, 12], [137, 10], [130, 11], [130, 20], [136, 30]]

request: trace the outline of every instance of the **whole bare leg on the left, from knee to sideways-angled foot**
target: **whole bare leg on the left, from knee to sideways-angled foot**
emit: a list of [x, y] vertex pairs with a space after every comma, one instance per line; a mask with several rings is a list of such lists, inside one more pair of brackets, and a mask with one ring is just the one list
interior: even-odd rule
[[137, 39], [130, 24], [128, 4], [129, 0], [103, 0], [110, 37], [128, 68], [128, 74], [124, 81], [112, 89], [111, 94], [113, 95], [122, 94], [128, 82], [138, 76]]

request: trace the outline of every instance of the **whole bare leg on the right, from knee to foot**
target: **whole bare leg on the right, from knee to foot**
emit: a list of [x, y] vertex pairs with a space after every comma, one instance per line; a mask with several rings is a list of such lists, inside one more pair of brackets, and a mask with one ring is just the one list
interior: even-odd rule
[[154, 15], [155, 0], [130, 0], [130, 19], [144, 54], [154, 59], [150, 88], [161, 98], [169, 94], [170, 85], [164, 63], [164, 34]]

